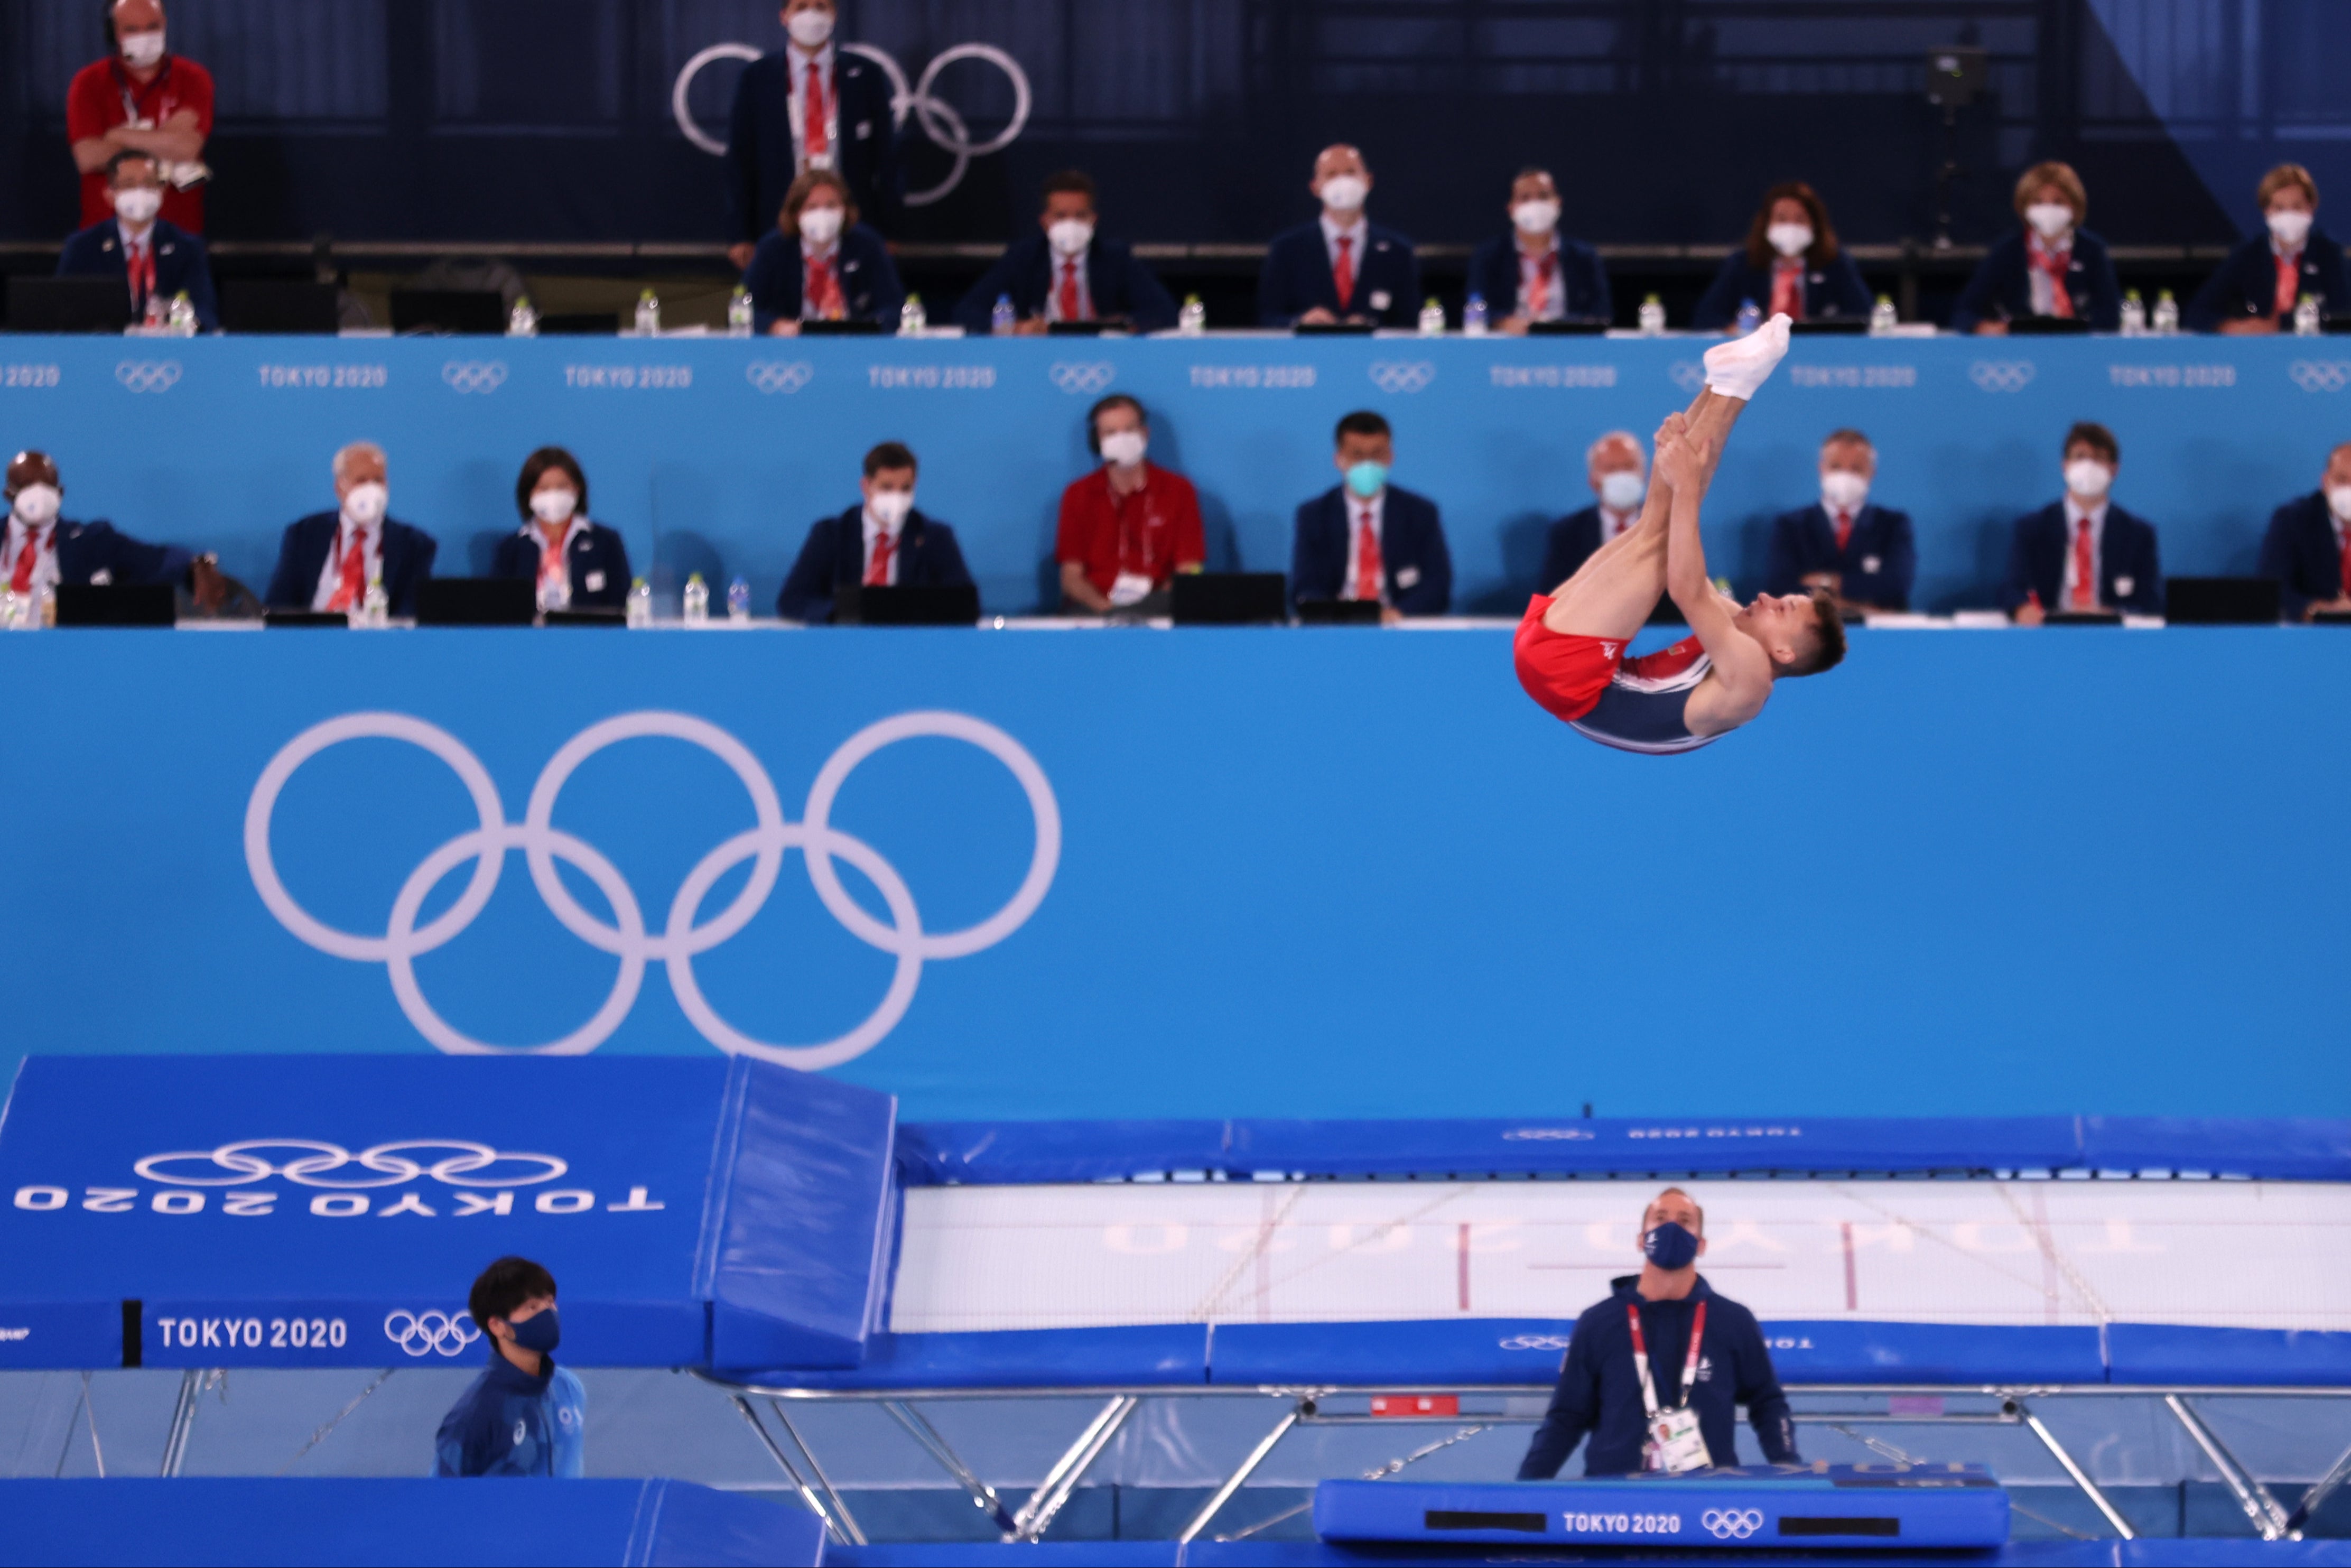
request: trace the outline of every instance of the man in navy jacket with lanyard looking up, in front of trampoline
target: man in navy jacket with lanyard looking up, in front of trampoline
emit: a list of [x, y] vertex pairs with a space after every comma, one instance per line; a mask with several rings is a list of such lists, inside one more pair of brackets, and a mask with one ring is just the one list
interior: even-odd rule
[[[1697, 1272], [1707, 1253], [1707, 1213], [1688, 1192], [1667, 1187], [1650, 1201], [1641, 1213], [1639, 1253], [1641, 1272], [1610, 1279], [1608, 1300], [1575, 1319], [1559, 1389], [1526, 1446], [1519, 1479], [1556, 1476], [1587, 1432], [1587, 1476], [1737, 1465], [1740, 1406], [1747, 1406], [1768, 1465], [1801, 1465], [1796, 1422], [1756, 1314], [1716, 1295]], [[1634, 1359], [1643, 1349], [1646, 1387]], [[1695, 1425], [1695, 1432], [1660, 1443], [1660, 1415], [1669, 1429]]]

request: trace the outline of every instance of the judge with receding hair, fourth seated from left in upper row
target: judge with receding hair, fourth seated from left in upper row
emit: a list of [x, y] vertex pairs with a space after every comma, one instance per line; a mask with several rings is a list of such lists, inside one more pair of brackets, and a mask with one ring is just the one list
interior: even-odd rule
[[1420, 256], [1392, 228], [1364, 219], [1371, 165], [1338, 143], [1314, 160], [1307, 186], [1321, 219], [1274, 235], [1258, 273], [1258, 324], [1411, 327], [1420, 320]]

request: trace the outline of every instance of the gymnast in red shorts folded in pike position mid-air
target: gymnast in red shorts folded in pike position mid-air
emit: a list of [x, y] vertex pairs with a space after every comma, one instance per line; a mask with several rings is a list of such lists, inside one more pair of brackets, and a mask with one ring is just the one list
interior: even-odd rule
[[[1707, 581], [1697, 505], [1747, 400], [1787, 353], [1787, 317], [1707, 350], [1707, 383], [1657, 428], [1657, 463], [1641, 520], [1582, 569], [1535, 595], [1512, 644], [1519, 684], [1554, 717], [1627, 752], [1690, 752], [1747, 724], [1773, 682], [1820, 675], [1846, 656], [1846, 628], [1827, 592], [1756, 595], [1751, 604]], [[1625, 658], [1660, 592], [1690, 637]]]

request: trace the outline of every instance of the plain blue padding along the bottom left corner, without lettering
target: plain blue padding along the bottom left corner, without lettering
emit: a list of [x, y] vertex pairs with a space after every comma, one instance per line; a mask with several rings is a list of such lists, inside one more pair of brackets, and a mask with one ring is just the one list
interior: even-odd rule
[[816, 1514], [686, 1481], [0, 1481], [0, 1563], [804, 1563]]

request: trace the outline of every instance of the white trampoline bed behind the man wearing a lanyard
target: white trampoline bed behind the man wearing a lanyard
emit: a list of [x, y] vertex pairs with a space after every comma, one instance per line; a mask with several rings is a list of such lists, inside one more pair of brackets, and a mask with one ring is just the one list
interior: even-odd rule
[[[2351, 1328], [2351, 1185], [1681, 1182], [1770, 1321]], [[917, 1187], [891, 1328], [1573, 1319], [1646, 1182]]]

